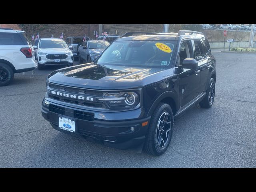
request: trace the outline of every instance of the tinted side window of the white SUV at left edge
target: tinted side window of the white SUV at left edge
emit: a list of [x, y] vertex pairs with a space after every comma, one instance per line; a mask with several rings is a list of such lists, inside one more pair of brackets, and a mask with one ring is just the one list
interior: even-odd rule
[[0, 45], [24, 45], [18, 33], [0, 32]]

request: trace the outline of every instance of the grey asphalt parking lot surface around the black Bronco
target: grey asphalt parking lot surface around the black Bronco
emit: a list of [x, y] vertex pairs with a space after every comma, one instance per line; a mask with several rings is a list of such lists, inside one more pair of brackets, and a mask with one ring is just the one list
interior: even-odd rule
[[256, 54], [213, 54], [212, 108], [197, 105], [176, 119], [170, 147], [158, 157], [54, 130], [40, 107], [46, 76], [58, 67], [15, 74], [0, 87], [0, 167], [256, 167]]

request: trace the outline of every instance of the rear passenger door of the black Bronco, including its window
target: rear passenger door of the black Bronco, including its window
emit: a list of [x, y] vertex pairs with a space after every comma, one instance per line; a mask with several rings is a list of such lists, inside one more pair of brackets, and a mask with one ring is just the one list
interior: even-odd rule
[[[210, 45], [209, 49], [206, 47], [206, 39], [194, 39], [193, 45], [194, 45], [194, 59], [198, 61], [198, 70], [200, 70], [200, 88], [199, 92], [204, 92], [207, 88], [207, 81], [208, 76], [210, 73], [210, 67], [211, 67], [211, 59], [208, 56], [210, 54]], [[208, 50], [207, 50], [208, 49]]]

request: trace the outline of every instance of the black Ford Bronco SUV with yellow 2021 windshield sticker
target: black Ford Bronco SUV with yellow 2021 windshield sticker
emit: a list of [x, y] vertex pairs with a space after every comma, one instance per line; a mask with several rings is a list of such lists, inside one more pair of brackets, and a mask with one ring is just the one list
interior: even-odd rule
[[47, 77], [42, 116], [61, 132], [160, 155], [174, 118], [214, 102], [216, 60], [200, 32], [118, 38], [95, 62]]

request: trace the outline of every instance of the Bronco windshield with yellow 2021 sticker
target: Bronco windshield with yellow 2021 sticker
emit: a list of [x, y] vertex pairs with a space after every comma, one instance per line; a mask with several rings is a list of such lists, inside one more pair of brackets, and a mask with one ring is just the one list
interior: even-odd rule
[[165, 67], [170, 64], [175, 44], [175, 41], [116, 41], [97, 63]]

